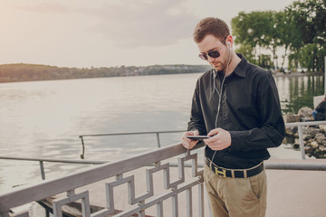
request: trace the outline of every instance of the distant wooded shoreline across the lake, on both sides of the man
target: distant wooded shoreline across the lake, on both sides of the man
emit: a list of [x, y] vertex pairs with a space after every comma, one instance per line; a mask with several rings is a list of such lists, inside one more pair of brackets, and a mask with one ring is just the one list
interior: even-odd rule
[[[37, 64], [4, 64], [0, 65], [0, 83], [40, 81], [40, 80], [72, 80], [126, 76], [146, 76], [163, 74], [203, 73], [212, 69], [210, 65], [153, 65], [153, 66], [120, 66], [101, 68], [67, 68]], [[321, 72], [274, 72], [274, 77], [321, 76]]]

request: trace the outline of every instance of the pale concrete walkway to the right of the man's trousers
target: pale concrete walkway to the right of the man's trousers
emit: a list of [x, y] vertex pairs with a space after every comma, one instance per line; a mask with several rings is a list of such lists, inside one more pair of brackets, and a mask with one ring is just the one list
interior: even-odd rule
[[[326, 164], [326, 160], [305, 160], [316, 161]], [[266, 170], [266, 175], [267, 217], [326, 216], [326, 171]]]

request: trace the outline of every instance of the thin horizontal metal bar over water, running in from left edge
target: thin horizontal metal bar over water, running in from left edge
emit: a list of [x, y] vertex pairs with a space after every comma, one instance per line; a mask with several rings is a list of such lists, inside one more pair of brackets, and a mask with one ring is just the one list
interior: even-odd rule
[[84, 160], [66, 160], [66, 159], [38, 158], [38, 157], [12, 157], [12, 156], [0, 156], [0, 159], [57, 162], [57, 163], [69, 163], [69, 164], [82, 164], [82, 165], [101, 165], [109, 162], [109, 161], [84, 161]]

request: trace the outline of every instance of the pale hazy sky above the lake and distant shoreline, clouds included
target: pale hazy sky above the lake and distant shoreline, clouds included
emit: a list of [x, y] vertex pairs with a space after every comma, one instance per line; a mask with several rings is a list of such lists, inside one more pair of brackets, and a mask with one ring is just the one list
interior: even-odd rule
[[[2, 0], [0, 64], [206, 64], [192, 40], [207, 16], [281, 11], [293, 0]], [[236, 41], [235, 41], [236, 44]]]

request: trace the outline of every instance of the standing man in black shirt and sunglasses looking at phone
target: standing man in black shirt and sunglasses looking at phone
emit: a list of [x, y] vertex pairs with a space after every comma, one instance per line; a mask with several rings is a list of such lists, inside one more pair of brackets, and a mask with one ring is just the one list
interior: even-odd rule
[[208, 17], [197, 24], [199, 57], [213, 70], [198, 80], [182, 144], [187, 149], [207, 135], [204, 181], [213, 216], [264, 216], [268, 147], [280, 146], [284, 122], [270, 72], [233, 50], [224, 21]]

